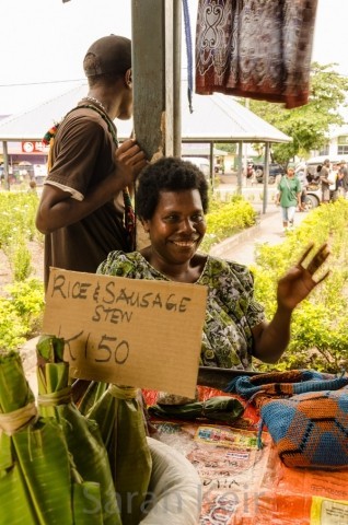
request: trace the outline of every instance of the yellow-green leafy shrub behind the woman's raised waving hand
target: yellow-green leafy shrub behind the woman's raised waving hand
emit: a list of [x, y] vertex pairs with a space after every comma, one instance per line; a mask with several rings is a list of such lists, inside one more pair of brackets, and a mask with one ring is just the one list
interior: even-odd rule
[[[252, 268], [255, 296], [265, 305], [267, 318], [271, 318], [276, 310], [278, 279], [298, 262], [309, 240], [315, 242], [316, 248], [328, 241], [332, 252], [326, 268], [321, 271], [323, 276], [329, 269], [328, 278], [293, 313], [291, 340], [277, 364], [278, 370], [315, 368], [337, 373], [348, 368], [347, 229], [348, 201], [339, 199], [313, 210], [282, 244], [256, 247], [256, 265]], [[258, 368], [269, 369], [265, 364]]]

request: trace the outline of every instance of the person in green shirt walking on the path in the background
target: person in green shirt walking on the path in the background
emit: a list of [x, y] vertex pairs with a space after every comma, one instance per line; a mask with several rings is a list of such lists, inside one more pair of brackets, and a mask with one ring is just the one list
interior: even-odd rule
[[278, 184], [276, 205], [281, 207], [283, 231], [293, 228], [293, 219], [297, 208], [302, 210], [301, 205], [301, 183], [294, 176], [294, 167], [289, 165], [286, 175], [281, 177]]

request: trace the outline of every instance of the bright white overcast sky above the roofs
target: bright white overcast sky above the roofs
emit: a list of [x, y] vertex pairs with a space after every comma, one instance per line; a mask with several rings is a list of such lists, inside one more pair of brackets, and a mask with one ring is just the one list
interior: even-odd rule
[[[189, 2], [194, 22], [198, 0]], [[348, 0], [318, 0], [312, 60], [337, 62], [346, 77], [347, 20]], [[86, 49], [111, 33], [131, 37], [131, 0], [1, 0], [0, 115], [83, 82]]]

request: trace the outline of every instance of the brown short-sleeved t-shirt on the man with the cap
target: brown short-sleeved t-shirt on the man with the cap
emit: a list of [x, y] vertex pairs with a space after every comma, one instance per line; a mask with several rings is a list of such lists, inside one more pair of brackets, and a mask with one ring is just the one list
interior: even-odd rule
[[[50, 182], [85, 197], [115, 170], [116, 145], [95, 110], [79, 108], [59, 125]], [[85, 219], [45, 236], [45, 282], [50, 266], [94, 273], [114, 249], [128, 250], [121, 194]]]

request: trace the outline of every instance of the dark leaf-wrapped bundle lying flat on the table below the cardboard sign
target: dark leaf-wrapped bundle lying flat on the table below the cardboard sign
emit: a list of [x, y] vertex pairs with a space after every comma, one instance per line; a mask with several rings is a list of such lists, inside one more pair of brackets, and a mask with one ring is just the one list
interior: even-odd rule
[[234, 397], [216, 396], [207, 401], [188, 402], [186, 405], [152, 405], [148, 408], [148, 411], [150, 415], [160, 418], [185, 420], [207, 418], [230, 424], [242, 416], [244, 407]]

